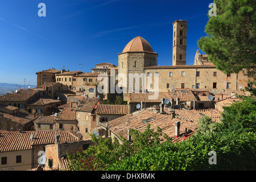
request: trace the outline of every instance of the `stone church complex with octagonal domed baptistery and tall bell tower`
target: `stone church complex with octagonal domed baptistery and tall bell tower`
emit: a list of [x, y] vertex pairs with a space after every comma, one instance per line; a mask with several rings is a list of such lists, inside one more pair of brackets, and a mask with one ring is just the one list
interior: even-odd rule
[[208, 60], [208, 55], [201, 55], [199, 50], [196, 51], [194, 64], [186, 64], [187, 22], [176, 20], [172, 24], [170, 66], [158, 66], [158, 53], [140, 36], [132, 39], [118, 53], [118, 86], [126, 92], [124, 100], [129, 97], [129, 92], [170, 92], [174, 88], [236, 92], [247, 86], [248, 78], [242, 72], [228, 75], [221, 72]]

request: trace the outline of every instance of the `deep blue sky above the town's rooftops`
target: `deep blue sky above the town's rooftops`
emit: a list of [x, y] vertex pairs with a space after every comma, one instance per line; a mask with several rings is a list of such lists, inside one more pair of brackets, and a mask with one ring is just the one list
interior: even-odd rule
[[[187, 64], [205, 36], [213, 0], [0, 0], [0, 82], [36, 85], [36, 72], [92, 72], [98, 63], [118, 65], [118, 53], [141, 36], [172, 65], [172, 23], [188, 20]], [[39, 3], [46, 17], [39, 17]], [[201, 53], [204, 53], [200, 50]]]

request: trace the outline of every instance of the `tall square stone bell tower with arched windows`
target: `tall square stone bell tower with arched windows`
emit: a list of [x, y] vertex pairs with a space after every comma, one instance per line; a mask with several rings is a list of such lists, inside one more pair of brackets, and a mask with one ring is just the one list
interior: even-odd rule
[[187, 22], [176, 20], [172, 23], [172, 65], [186, 65], [187, 51]]

